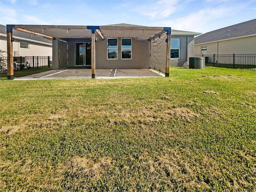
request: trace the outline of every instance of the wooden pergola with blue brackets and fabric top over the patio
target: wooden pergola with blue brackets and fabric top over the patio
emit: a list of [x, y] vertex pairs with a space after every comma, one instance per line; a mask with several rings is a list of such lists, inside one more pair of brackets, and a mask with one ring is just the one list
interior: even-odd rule
[[[14, 79], [13, 69], [13, 48], [12, 29], [23, 32], [40, 35], [52, 39], [67, 39], [67, 38], [91, 38], [91, 63], [92, 63], [92, 78], [95, 78], [95, 39], [102, 40], [106, 38], [141, 38], [148, 41], [160, 38], [166, 34], [166, 66], [165, 74], [169, 76], [170, 63], [170, 27], [147, 27], [130, 24], [116, 24], [105, 26], [56, 26], [56, 25], [7, 25], [7, 77], [9, 80]], [[53, 50], [54, 52], [54, 50]], [[54, 58], [53, 58], [54, 62]], [[58, 62], [58, 60], [56, 60]]]

